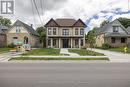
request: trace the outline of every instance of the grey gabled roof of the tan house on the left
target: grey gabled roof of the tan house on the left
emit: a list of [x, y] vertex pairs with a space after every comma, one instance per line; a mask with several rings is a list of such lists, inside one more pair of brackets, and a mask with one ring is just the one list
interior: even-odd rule
[[[22, 21], [20, 21], [20, 20], [17, 20], [17, 21], [13, 24], [13, 26], [23, 26], [23, 27], [25, 27], [25, 28], [27, 29], [27, 31], [28, 31], [30, 34], [39, 36], [39, 34], [33, 29], [32, 26], [29, 26], [29, 25], [25, 24], [24, 22], [22, 22]], [[13, 26], [12, 26], [12, 27], [13, 27]]]

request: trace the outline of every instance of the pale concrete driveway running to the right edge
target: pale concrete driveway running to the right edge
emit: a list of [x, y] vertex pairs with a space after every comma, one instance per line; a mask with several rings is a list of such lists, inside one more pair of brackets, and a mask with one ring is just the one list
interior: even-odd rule
[[[91, 50], [91, 48], [88, 48]], [[111, 62], [130, 62], [130, 54], [124, 54], [120, 52], [113, 52], [108, 50], [101, 50], [101, 49], [92, 49], [92, 51], [103, 53], [109, 57]]]

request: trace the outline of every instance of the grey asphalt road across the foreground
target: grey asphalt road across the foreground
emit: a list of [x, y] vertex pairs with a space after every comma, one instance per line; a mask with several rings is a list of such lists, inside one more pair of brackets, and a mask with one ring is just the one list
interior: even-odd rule
[[130, 87], [130, 63], [0, 63], [0, 87]]

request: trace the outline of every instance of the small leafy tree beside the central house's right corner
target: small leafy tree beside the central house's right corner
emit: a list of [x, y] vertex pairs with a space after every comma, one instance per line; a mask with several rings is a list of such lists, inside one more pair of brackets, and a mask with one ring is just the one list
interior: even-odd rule
[[85, 37], [87, 42], [90, 44], [90, 47], [94, 47], [95, 40], [96, 40], [96, 29], [97, 28], [95, 27], [92, 30], [90, 30]]

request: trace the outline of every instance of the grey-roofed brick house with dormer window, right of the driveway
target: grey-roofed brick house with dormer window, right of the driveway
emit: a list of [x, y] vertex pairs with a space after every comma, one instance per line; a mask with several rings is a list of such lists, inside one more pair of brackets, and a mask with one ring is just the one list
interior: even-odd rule
[[130, 45], [130, 29], [126, 29], [117, 19], [97, 29], [96, 46], [108, 43], [111, 47]]

